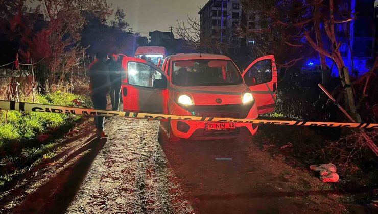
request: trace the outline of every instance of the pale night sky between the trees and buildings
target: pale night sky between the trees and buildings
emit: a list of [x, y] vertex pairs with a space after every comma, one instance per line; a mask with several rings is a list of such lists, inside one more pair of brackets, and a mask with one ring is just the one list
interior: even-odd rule
[[[149, 31], [169, 31], [176, 27], [177, 20], [185, 22], [187, 16], [198, 17], [198, 7], [208, 0], [108, 0], [113, 8], [120, 7], [126, 13], [126, 20], [134, 32], [148, 36]], [[112, 19], [111, 17], [110, 19]]]

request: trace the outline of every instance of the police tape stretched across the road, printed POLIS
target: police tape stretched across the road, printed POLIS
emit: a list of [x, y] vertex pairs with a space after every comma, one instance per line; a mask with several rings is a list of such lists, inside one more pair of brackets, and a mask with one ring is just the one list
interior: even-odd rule
[[141, 112], [119, 112], [108, 110], [84, 109], [67, 106], [45, 105], [36, 103], [0, 101], [0, 110], [15, 110], [24, 112], [45, 112], [60, 113], [67, 115], [88, 115], [105, 117], [125, 117], [147, 120], [191, 120], [201, 122], [234, 122], [250, 123], [258, 125], [287, 125], [287, 126], [313, 126], [313, 127], [347, 127], [347, 128], [377, 128], [377, 123], [337, 123], [337, 122], [309, 122], [309, 121], [286, 121], [286, 120], [261, 120], [261, 119], [239, 119], [223, 117], [199, 117], [199, 116], [180, 116]]

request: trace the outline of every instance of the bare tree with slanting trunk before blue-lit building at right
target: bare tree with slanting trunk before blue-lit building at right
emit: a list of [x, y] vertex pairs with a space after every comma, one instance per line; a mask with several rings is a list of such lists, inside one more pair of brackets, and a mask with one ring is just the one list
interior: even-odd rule
[[[269, 26], [264, 29], [250, 31], [249, 36], [258, 37], [259, 34], [270, 34], [268, 37], [276, 37], [275, 42], [265, 43], [265, 48], [275, 47], [290, 48], [290, 52], [302, 53], [303, 48], [312, 47], [319, 56], [323, 72], [328, 72], [325, 57], [331, 59], [338, 68], [342, 86], [344, 87], [346, 103], [350, 113], [356, 121], [357, 115], [355, 98], [351, 86], [348, 68], [345, 66], [340, 51], [341, 42], [337, 41], [335, 26], [347, 24], [353, 20], [350, 11], [341, 11], [336, 7], [334, 0], [325, 3], [323, 0], [316, 1], [244, 1], [247, 10], [259, 10], [269, 20]], [[337, 2], [340, 6], [342, 1]], [[327, 39], [325, 47], [323, 39]], [[274, 47], [272, 47], [274, 48]], [[285, 49], [286, 49], [285, 48]], [[291, 55], [286, 54], [286, 57]], [[295, 55], [293, 55], [295, 56]], [[300, 58], [299, 58], [300, 59]], [[291, 60], [293, 61], [293, 60]], [[298, 56], [294, 58], [298, 61]]]

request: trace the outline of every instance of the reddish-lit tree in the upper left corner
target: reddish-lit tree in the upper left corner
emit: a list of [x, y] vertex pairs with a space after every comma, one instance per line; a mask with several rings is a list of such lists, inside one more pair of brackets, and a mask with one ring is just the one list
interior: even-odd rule
[[105, 18], [111, 11], [103, 0], [32, 2], [39, 3], [36, 9], [28, 8], [26, 0], [4, 0], [0, 20], [9, 39], [17, 42], [21, 59], [33, 58], [34, 62], [44, 59], [36, 66], [36, 76], [40, 86], [48, 90], [53, 73], [72, 72], [82, 58], [81, 30], [86, 24], [83, 12]]

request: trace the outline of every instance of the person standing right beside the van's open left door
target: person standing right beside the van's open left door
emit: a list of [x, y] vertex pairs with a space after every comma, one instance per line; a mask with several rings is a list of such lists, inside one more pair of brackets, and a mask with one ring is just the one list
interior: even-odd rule
[[110, 77], [110, 100], [113, 111], [118, 111], [121, 98], [121, 60], [118, 54], [113, 51], [111, 58], [107, 61]]

